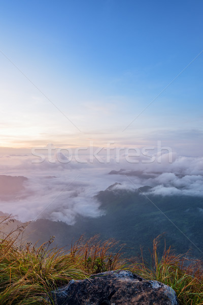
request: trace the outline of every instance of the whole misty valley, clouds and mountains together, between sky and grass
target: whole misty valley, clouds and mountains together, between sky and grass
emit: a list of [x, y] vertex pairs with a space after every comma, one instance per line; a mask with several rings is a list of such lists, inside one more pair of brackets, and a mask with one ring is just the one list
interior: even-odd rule
[[148, 256], [162, 234], [160, 251], [165, 241], [177, 253], [201, 258], [203, 159], [171, 157], [171, 163], [164, 153], [151, 163], [129, 163], [126, 156], [117, 163], [113, 155], [109, 163], [35, 163], [33, 156], [7, 155], [1, 158], [0, 210], [16, 225], [30, 222], [23, 238], [33, 244], [54, 235], [55, 246], [69, 248], [83, 234], [99, 235], [125, 244], [128, 257], [141, 248]]

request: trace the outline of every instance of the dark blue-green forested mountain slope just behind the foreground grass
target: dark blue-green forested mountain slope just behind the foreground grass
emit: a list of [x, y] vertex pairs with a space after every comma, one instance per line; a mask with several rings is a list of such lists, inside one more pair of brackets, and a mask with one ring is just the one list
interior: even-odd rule
[[[151, 188], [149, 186], [134, 191], [116, 189], [117, 186], [114, 184], [95, 196], [101, 209], [105, 210], [104, 216], [78, 217], [73, 226], [63, 222], [37, 220], [28, 226], [28, 239], [43, 242], [55, 235], [55, 245], [61, 247], [70, 246], [72, 240], [83, 233], [87, 237], [100, 234], [103, 240], [114, 237], [121, 243], [126, 243], [126, 255], [134, 256], [140, 253], [140, 247], [144, 247], [147, 255], [153, 239], [165, 232], [166, 246], [171, 245], [177, 253], [191, 249], [193, 256], [202, 257], [202, 198], [163, 197], [149, 193], [146, 197], [145, 192]], [[163, 248], [162, 242], [161, 249]]]

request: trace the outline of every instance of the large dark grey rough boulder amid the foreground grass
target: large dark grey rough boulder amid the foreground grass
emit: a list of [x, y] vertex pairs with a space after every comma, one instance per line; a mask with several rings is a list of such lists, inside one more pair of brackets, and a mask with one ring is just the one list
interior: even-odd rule
[[56, 305], [177, 305], [175, 291], [130, 271], [107, 271], [74, 281], [52, 293]]

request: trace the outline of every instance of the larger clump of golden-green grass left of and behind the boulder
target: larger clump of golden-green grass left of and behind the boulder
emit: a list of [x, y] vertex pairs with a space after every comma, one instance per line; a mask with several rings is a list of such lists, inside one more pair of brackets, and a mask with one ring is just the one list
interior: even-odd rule
[[[1, 224], [7, 223], [3, 219]], [[122, 267], [120, 253], [111, 253], [114, 240], [100, 242], [97, 236], [88, 241], [81, 237], [70, 249], [50, 249], [54, 236], [40, 247], [19, 245], [18, 227], [0, 239], [0, 304], [50, 304], [50, 291], [70, 280], [87, 278]], [[18, 242], [17, 242], [18, 241]]]

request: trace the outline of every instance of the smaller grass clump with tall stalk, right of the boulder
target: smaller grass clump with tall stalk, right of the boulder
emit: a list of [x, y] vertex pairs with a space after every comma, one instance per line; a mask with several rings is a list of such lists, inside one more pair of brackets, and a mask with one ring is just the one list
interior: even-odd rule
[[153, 241], [151, 264], [146, 263], [142, 257], [142, 262], [131, 264], [131, 270], [146, 280], [156, 280], [172, 287], [180, 305], [203, 304], [202, 261], [175, 255], [171, 248], [165, 250], [159, 259], [159, 237]]

